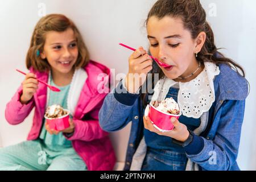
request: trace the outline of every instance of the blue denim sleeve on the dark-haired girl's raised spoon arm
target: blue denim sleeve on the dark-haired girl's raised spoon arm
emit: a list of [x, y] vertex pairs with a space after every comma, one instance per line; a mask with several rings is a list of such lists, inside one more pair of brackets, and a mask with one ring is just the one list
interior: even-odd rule
[[[118, 85], [120, 86], [122, 82]], [[121, 85], [122, 87], [122, 85]], [[99, 113], [100, 126], [112, 132], [123, 129], [133, 118], [133, 109], [137, 107], [139, 94], [109, 93]]]

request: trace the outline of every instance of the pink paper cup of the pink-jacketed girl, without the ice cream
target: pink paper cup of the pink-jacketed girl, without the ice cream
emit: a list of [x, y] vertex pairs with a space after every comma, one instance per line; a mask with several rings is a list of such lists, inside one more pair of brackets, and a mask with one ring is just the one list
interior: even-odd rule
[[46, 115], [44, 115], [44, 118], [46, 118], [46, 122], [49, 125], [49, 128], [52, 130], [61, 131], [64, 129], [67, 129], [69, 127], [69, 113], [70, 111], [67, 109], [64, 109], [67, 111], [66, 115], [63, 115], [59, 118], [48, 118]]

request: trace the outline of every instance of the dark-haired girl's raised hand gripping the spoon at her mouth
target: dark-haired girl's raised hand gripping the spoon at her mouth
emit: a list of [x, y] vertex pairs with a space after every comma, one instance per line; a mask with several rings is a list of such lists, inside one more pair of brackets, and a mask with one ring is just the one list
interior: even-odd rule
[[130, 93], [137, 93], [144, 84], [147, 73], [152, 70], [152, 59], [142, 47], [129, 57], [129, 73], [125, 78], [125, 86]]

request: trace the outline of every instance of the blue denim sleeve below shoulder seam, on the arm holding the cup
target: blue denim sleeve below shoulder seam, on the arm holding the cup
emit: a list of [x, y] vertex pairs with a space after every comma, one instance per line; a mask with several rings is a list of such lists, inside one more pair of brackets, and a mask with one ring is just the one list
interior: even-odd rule
[[[208, 171], [228, 171], [236, 162], [245, 111], [245, 100], [226, 100], [216, 113], [216, 134], [212, 140], [204, 140], [203, 150], [188, 158]], [[213, 123], [214, 123], [213, 122]]]

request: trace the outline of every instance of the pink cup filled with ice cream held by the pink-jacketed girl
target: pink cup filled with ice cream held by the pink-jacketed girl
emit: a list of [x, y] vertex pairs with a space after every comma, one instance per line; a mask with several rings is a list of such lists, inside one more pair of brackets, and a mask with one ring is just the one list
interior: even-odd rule
[[61, 131], [69, 127], [69, 113], [69, 110], [60, 105], [52, 105], [47, 107], [44, 118], [50, 129]]

